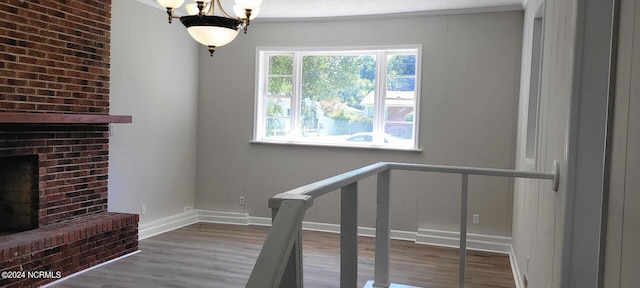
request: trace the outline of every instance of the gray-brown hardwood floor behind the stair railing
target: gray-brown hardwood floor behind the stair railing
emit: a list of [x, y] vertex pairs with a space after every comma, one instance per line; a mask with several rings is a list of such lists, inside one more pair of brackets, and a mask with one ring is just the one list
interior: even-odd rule
[[[141, 252], [53, 287], [244, 287], [268, 227], [199, 223], [140, 241]], [[358, 240], [358, 287], [373, 279], [374, 239]], [[303, 232], [304, 285], [339, 287], [339, 235]], [[458, 249], [391, 241], [394, 283], [457, 287]], [[466, 287], [515, 287], [509, 257], [468, 251]]]

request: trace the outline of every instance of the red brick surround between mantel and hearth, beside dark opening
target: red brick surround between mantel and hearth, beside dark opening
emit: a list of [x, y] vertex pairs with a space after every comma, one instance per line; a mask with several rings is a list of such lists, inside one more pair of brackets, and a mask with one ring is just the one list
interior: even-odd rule
[[39, 225], [107, 211], [107, 125], [0, 125], [0, 157], [39, 155]]

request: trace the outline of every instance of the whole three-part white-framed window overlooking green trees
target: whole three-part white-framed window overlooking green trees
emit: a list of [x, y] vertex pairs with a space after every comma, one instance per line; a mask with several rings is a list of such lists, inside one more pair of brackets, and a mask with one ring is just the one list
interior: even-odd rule
[[254, 141], [417, 149], [420, 47], [258, 49]]

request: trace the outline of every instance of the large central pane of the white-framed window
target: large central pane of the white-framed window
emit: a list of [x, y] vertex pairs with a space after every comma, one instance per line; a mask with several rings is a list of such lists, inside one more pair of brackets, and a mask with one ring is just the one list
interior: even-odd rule
[[373, 101], [365, 98], [373, 99], [375, 56], [304, 56], [302, 66], [304, 140], [371, 142]]

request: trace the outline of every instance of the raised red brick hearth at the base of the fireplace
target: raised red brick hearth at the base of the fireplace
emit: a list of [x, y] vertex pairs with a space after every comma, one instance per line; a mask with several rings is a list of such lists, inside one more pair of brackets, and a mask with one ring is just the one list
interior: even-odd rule
[[136, 214], [96, 213], [12, 234], [0, 240], [0, 271], [52, 276], [0, 279], [0, 287], [39, 287], [136, 250]]

